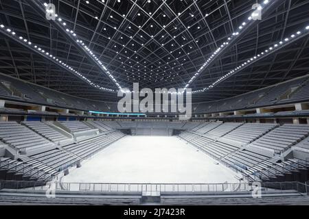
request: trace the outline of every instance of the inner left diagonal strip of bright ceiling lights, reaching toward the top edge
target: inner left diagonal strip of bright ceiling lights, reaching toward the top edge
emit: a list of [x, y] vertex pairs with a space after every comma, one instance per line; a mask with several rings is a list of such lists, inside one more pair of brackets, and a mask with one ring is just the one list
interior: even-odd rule
[[[47, 7], [47, 3], [44, 3], [44, 6]], [[47, 10], [47, 12], [49, 12]], [[56, 22], [59, 22], [62, 26], [66, 27], [67, 26], [67, 23], [65, 23], [64, 21], [62, 21], [62, 18], [60, 18], [58, 16], [58, 14], [55, 14], [56, 16]], [[93, 53], [93, 51], [91, 51], [91, 49], [89, 49], [85, 44], [84, 42], [82, 42], [82, 40], [80, 40], [78, 38], [78, 36], [76, 35], [76, 33], [71, 30], [71, 29], [65, 29], [67, 31], [67, 33], [71, 34], [74, 38], [76, 38], [76, 42], [78, 42], [79, 44], [82, 45], [82, 47], [84, 48], [85, 51], [87, 51], [87, 53], [89, 53], [94, 59], [95, 59], [95, 62], [98, 63], [98, 65], [100, 67], [102, 67], [105, 71], [106, 71], [106, 74], [108, 75], [108, 77], [110, 77], [112, 79], [112, 81], [116, 84], [116, 86], [119, 88], [119, 89], [122, 89], [122, 87], [119, 85], [118, 81], [115, 79], [115, 77], [113, 77], [113, 75], [108, 71], [108, 69], [106, 68], [106, 66], [104, 66], [104, 64], [102, 64], [102, 62], [98, 59], [98, 57]]]

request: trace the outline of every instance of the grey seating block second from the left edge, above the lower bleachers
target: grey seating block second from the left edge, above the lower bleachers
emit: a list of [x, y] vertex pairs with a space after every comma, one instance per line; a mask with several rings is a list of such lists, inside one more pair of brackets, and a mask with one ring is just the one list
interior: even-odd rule
[[24, 125], [32, 129], [33, 131], [36, 131], [41, 136], [44, 136], [48, 140], [52, 142], [61, 142], [63, 140], [68, 140], [66, 136], [63, 136], [58, 131], [52, 129], [52, 127], [49, 127], [45, 123], [41, 122], [24, 122]]

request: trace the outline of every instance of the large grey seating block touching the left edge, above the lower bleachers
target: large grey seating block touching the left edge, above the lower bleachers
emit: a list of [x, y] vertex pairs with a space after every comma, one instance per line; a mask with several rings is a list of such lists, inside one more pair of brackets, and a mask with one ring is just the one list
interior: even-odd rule
[[21, 151], [45, 149], [54, 146], [54, 143], [16, 122], [0, 122], [0, 139]]

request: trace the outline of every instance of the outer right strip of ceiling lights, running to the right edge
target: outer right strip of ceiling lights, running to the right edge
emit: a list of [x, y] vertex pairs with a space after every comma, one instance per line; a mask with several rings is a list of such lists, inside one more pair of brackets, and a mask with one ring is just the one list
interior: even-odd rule
[[235, 69], [229, 71], [229, 73], [227, 73], [226, 75], [220, 77], [220, 79], [216, 80], [214, 83], [212, 83], [207, 88], [203, 88], [201, 90], [194, 90], [194, 91], [192, 91], [192, 93], [205, 92], [207, 90], [210, 90], [211, 88], [214, 88], [214, 86], [216, 86], [218, 83], [220, 83], [221, 81], [227, 79], [227, 77], [231, 77], [231, 75], [237, 73], [239, 70], [247, 67], [247, 65], [251, 64], [251, 62], [254, 62], [255, 60], [260, 59], [262, 57], [266, 57], [274, 49], [279, 49], [280, 47], [284, 47], [286, 44], [288, 44], [288, 42], [290, 42], [290, 40], [293, 40], [295, 38], [301, 38], [301, 36], [304, 36], [305, 34], [308, 34], [308, 31], [309, 31], [309, 25], [306, 28], [304, 28], [304, 31], [299, 30], [295, 34], [292, 34], [290, 36], [290, 38], [284, 38], [284, 40], [273, 44], [273, 46], [269, 47], [268, 49], [266, 49], [262, 53], [259, 53], [258, 55], [255, 55], [255, 56], [249, 58], [249, 60], [247, 60], [246, 62], [243, 62], [242, 64], [240, 64], [240, 66], [236, 67]]

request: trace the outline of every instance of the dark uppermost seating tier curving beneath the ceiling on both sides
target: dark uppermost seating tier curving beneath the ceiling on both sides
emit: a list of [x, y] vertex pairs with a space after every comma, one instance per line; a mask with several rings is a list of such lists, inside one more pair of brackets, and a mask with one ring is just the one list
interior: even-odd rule
[[[194, 103], [193, 113], [211, 114], [215, 112], [225, 112], [233, 110], [256, 108], [273, 103], [288, 103], [288, 101], [308, 101], [309, 100], [309, 75], [305, 77], [279, 83], [260, 90], [255, 90], [246, 94], [241, 94], [220, 101], [209, 101], [204, 103]], [[3, 84], [0, 84], [0, 96], [14, 101], [30, 101], [41, 105], [56, 105], [60, 107], [70, 107], [76, 110], [93, 110], [100, 112], [118, 112], [117, 103], [108, 103], [81, 99], [70, 96], [56, 90], [50, 90], [31, 83], [25, 83], [19, 79], [0, 74], [0, 82], [11, 84], [15, 90], [23, 95], [12, 95], [7, 92]], [[8, 82], [8, 83], [7, 83]], [[1, 88], [2, 87], [2, 88]], [[15, 92], [16, 94], [19, 92]]]

